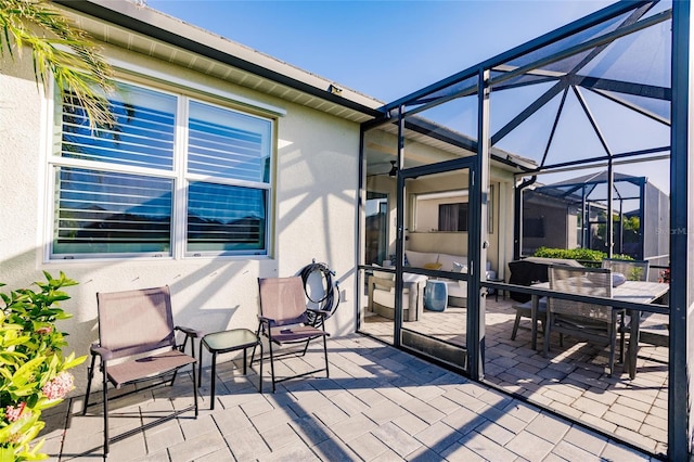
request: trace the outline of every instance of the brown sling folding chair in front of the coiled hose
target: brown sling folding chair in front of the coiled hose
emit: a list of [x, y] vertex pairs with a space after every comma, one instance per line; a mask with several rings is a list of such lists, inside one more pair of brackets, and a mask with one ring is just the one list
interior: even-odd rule
[[[330, 377], [327, 367], [327, 342], [330, 335], [325, 332], [324, 322], [320, 322], [320, 329], [310, 325], [307, 313], [304, 283], [299, 277], [291, 278], [268, 278], [258, 279], [260, 291], [260, 315], [258, 316], [257, 335], [262, 334], [270, 344], [270, 373], [272, 375], [272, 393], [275, 392], [275, 384], [291, 378], [301, 377], [325, 371], [325, 376]], [[321, 311], [314, 312], [324, 316]], [[299, 356], [305, 356], [308, 345], [312, 339], [323, 338], [323, 354], [325, 356], [325, 367], [308, 372], [301, 372], [282, 378], [275, 378], [274, 360], [286, 355], [295, 356], [295, 351], [290, 351], [275, 356], [274, 347], [287, 344], [305, 343], [304, 351]], [[250, 356], [250, 362], [255, 356], [255, 347]]]

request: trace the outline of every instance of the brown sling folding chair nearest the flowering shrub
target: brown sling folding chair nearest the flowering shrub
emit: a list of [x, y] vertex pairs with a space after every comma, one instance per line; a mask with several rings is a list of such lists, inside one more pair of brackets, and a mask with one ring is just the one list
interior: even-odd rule
[[[103, 374], [104, 455], [107, 455], [108, 445], [112, 441], [169, 421], [190, 410], [194, 410], [195, 418], [197, 418], [195, 389], [197, 381], [195, 367], [192, 367], [192, 406], [175, 410], [168, 415], [113, 438], [108, 436], [108, 383], [115, 388], [143, 383], [143, 386], [136, 386], [132, 393], [166, 383], [174, 385], [178, 370], [196, 362], [193, 338], [198, 337], [200, 332], [174, 326], [168, 286], [98, 293], [97, 301], [99, 343], [91, 346], [91, 365], [87, 370], [87, 395], [82, 415], [87, 413], [89, 406], [91, 382], [94, 376], [95, 360], [99, 357]], [[176, 331], [185, 333], [185, 341], [182, 345], [176, 343]], [[191, 339], [191, 355], [183, 352], [189, 338]], [[120, 396], [126, 395], [129, 394]]]

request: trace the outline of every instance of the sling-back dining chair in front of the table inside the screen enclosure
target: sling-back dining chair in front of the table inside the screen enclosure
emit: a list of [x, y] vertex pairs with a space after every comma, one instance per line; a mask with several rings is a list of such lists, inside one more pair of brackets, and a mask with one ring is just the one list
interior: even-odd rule
[[[588, 295], [612, 298], [612, 271], [605, 268], [550, 267], [550, 288], [564, 294]], [[560, 333], [560, 345], [564, 334], [589, 342], [608, 344], [608, 374], [615, 365], [615, 349], [619, 316], [622, 309], [556, 297], [548, 298], [548, 321], [544, 325], [544, 356], [550, 350], [550, 335]], [[621, 334], [624, 335], [624, 333]]]

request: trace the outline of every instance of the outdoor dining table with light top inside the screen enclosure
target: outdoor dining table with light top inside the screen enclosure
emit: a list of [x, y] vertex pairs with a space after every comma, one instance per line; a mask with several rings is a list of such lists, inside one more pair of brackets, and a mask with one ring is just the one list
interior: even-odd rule
[[[532, 284], [536, 288], [550, 288], [549, 282]], [[626, 281], [616, 287], [613, 287], [612, 298], [629, 301], [634, 304], [652, 304], [663, 297], [670, 290], [670, 284], [661, 282], [648, 281]], [[538, 307], [540, 296], [532, 294], [531, 298], [531, 347], [537, 350], [537, 333], [538, 333]], [[637, 352], [639, 350], [639, 326], [640, 322], [633, 322], [634, 319], [641, 320], [641, 310], [630, 309], [632, 322], [629, 330], [629, 344], [627, 346], [627, 357], [625, 359], [625, 372], [629, 373], [630, 378], [637, 376]], [[547, 320], [545, 320], [547, 322]]]

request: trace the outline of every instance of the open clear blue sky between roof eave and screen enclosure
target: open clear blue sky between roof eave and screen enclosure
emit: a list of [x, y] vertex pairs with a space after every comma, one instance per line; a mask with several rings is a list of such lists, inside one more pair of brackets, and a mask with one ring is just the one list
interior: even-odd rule
[[146, 0], [151, 8], [384, 102], [611, 3]]

